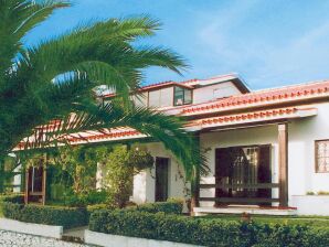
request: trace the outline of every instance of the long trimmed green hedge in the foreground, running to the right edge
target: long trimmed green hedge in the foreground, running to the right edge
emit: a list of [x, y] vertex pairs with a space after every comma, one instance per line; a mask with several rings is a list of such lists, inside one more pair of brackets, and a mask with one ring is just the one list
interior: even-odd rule
[[202, 219], [138, 211], [97, 211], [89, 229], [105, 234], [214, 247], [328, 247], [329, 228]]

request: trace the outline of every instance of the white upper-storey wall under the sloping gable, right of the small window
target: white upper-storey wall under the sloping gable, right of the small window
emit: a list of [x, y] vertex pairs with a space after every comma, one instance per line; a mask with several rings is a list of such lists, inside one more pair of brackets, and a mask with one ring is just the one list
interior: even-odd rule
[[193, 104], [206, 103], [215, 98], [223, 98], [240, 94], [241, 92], [231, 82], [214, 84], [211, 86], [195, 88], [193, 90]]

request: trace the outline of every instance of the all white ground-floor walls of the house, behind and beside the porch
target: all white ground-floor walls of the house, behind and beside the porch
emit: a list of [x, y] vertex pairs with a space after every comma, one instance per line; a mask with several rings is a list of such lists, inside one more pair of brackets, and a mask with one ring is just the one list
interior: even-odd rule
[[[329, 191], [329, 173], [316, 173], [315, 140], [329, 139], [329, 103], [317, 104], [315, 117], [289, 120], [288, 124], [288, 193], [289, 206], [297, 206], [293, 196], [306, 195], [307, 192]], [[270, 144], [272, 146], [272, 181], [278, 182], [278, 143], [277, 125], [258, 126], [246, 129], [212, 131], [201, 135], [201, 147], [209, 149], [206, 155], [211, 173], [201, 178], [202, 183], [214, 183], [214, 151], [216, 148]], [[155, 157], [171, 159], [169, 196], [183, 196], [183, 182], [177, 176], [178, 164], [173, 157], [164, 151], [160, 143], [145, 144]], [[144, 194], [142, 194], [144, 193]], [[202, 190], [201, 196], [214, 196], [214, 189]], [[273, 190], [273, 196], [278, 196], [278, 190]], [[151, 174], [139, 174], [135, 178], [134, 198], [141, 202], [153, 202], [155, 180]], [[203, 202], [201, 206], [212, 206], [213, 202]], [[277, 204], [274, 204], [277, 205]], [[315, 206], [315, 205], [312, 205]], [[328, 210], [329, 211], [329, 210]]]

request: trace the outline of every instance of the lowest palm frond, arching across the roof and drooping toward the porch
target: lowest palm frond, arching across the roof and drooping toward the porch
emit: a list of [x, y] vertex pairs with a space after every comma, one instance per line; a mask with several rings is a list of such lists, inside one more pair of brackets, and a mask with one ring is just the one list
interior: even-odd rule
[[77, 133], [130, 127], [163, 143], [164, 148], [170, 150], [184, 167], [187, 178], [192, 178], [195, 167], [201, 168], [201, 172], [206, 172], [206, 159], [200, 153], [193, 135], [182, 128], [184, 121], [181, 118], [169, 117], [148, 108], [127, 111], [120, 106], [107, 104], [98, 107], [91, 105], [83, 111], [66, 116], [59, 122], [55, 128], [52, 126], [44, 128], [44, 132], [35, 132], [36, 136], [32, 140], [38, 140], [38, 142], [32, 143], [33, 147], [57, 144], [70, 139], [71, 135], [74, 138], [81, 138], [82, 141], [87, 141], [84, 136]]

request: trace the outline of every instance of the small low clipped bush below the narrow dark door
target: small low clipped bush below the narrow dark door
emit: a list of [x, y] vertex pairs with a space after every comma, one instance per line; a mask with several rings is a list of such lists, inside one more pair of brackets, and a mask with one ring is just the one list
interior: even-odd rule
[[183, 211], [183, 201], [179, 198], [169, 198], [167, 202], [146, 203], [138, 205], [137, 211], [148, 213], [163, 212], [167, 214], [181, 214]]

